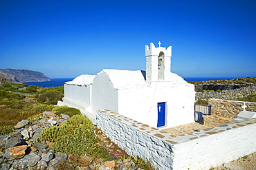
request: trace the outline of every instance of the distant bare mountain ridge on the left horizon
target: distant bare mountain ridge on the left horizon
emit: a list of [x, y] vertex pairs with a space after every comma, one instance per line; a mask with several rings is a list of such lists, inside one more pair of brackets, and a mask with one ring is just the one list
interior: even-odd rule
[[31, 70], [14, 70], [14, 69], [0, 69], [0, 81], [8, 83], [26, 83], [26, 82], [41, 82], [51, 81], [42, 72], [35, 72]]

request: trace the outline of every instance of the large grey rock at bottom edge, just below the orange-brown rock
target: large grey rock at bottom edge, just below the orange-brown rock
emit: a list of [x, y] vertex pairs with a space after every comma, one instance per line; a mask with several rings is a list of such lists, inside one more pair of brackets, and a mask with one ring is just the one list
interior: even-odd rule
[[39, 156], [38, 153], [33, 152], [19, 160], [17, 164], [15, 164], [15, 167], [18, 169], [28, 169], [29, 167], [34, 167], [40, 159], [41, 156]]

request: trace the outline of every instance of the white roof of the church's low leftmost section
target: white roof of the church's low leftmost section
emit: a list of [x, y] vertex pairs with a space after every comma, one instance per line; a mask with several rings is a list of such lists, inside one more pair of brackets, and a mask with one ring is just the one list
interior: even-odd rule
[[73, 81], [65, 82], [67, 85], [92, 85], [95, 75], [82, 74], [77, 76]]

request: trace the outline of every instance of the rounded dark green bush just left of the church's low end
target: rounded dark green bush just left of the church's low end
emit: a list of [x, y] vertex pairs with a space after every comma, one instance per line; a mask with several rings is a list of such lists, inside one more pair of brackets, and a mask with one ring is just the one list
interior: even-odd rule
[[63, 94], [57, 91], [48, 91], [41, 94], [37, 100], [39, 103], [46, 103], [48, 105], [56, 105], [58, 100], [62, 100]]

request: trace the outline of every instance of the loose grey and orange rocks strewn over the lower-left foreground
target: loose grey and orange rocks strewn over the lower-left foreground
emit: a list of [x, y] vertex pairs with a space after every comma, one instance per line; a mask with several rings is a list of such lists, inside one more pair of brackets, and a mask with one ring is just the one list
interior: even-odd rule
[[[40, 132], [51, 126], [65, 123], [68, 115], [61, 117], [54, 112], [45, 111], [37, 123], [30, 124], [22, 120], [15, 126], [14, 133], [0, 136], [0, 164], [5, 169], [140, 169], [125, 151], [111, 142], [100, 129], [95, 128], [99, 145], [104, 145], [110, 151], [113, 160], [105, 161], [93, 156], [67, 156], [65, 153], [54, 153], [50, 142], [35, 142]], [[6, 151], [3, 151], [7, 148]]]

